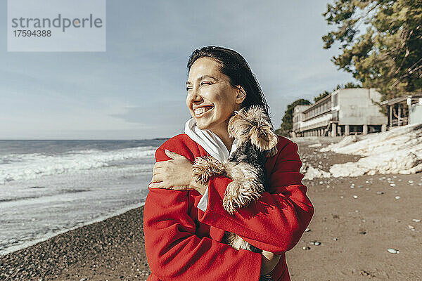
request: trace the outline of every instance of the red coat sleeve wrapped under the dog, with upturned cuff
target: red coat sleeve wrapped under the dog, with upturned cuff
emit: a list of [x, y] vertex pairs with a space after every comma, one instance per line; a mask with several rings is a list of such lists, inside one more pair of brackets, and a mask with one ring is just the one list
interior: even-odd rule
[[275, 254], [292, 249], [309, 225], [314, 207], [302, 184], [298, 145], [286, 138], [281, 140], [284, 141], [279, 141], [279, 154], [269, 176], [271, 192], [262, 193], [259, 201], [230, 215], [222, 207], [222, 199], [231, 179], [212, 178], [207, 209], [205, 213], [198, 211], [199, 221], [236, 233], [255, 247]]

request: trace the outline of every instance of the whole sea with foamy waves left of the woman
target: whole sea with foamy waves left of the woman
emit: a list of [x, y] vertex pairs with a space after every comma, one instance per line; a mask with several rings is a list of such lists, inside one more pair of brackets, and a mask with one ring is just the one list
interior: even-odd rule
[[141, 207], [166, 140], [0, 140], [0, 255]]

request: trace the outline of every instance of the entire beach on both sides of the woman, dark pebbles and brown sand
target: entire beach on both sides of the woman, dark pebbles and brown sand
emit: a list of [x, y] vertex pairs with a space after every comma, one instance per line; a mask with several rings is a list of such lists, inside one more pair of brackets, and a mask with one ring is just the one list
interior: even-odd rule
[[[300, 157], [324, 171], [360, 158], [308, 147], [314, 143], [300, 141]], [[292, 280], [422, 280], [421, 173], [303, 183], [316, 211], [286, 254]], [[1, 256], [0, 280], [146, 280], [142, 216], [143, 207], [133, 209]]]

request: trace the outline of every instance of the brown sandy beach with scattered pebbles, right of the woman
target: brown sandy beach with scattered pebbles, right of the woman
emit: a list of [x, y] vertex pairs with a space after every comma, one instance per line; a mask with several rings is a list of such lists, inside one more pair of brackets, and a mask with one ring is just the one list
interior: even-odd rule
[[[360, 158], [332, 152], [324, 158], [319, 148], [307, 148], [311, 143], [300, 143], [300, 155], [312, 166], [322, 162], [326, 169]], [[286, 254], [292, 280], [422, 280], [421, 173], [303, 183], [315, 214], [309, 231]]]

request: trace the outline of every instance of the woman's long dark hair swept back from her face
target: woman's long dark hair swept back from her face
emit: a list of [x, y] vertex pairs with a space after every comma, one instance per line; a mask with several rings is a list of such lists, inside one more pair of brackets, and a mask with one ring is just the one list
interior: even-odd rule
[[265, 112], [269, 114], [269, 106], [267, 100], [265, 100], [264, 93], [262, 93], [260, 84], [240, 53], [219, 46], [198, 48], [189, 57], [188, 71], [191, 70], [191, 66], [198, 58], [204, 57], [217, 60], [220, 65], [220, 71], [229, 77], [232, 86], [242, 86], [246, 92], [242, 107], [261, 105], [264, 107]]

